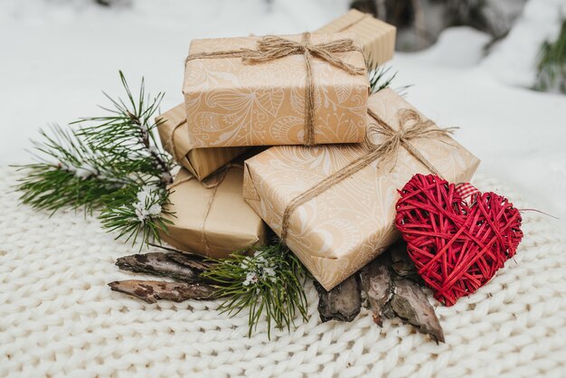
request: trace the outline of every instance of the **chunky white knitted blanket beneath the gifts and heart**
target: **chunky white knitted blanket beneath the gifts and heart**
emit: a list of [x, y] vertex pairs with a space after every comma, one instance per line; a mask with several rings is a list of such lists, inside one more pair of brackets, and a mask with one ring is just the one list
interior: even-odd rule
[[[114, 261], [136, 250], [83, 213], [18, 205], [17, 175], [0, 175], [0, 376], [566, 376], [566, 254], [539, 213], [524, 213], [524, 241], [495, 279], [437, 308], [446, 344], [398, 322], [380, 328], [365, 310], [323, 324], [311, 284], [309, 321], [269, 341], [214, 302], [111, 292], [108, 282], [133, 278]], [[475, 183], [525, 207], [510, 188]]]

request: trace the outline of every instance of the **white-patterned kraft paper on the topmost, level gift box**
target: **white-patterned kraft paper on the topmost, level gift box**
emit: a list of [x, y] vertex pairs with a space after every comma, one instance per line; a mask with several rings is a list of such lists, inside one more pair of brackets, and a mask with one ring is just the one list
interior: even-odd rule
[[[311, 42], [352, 37], [347, 33], [313, 34]], [[259, 38], [193, 40], [190, 53], [255, 50]], [[283, 38], [301, 41], [300, 35]], [[365, 67], [362, 52], [335, 52], [335, 56]], [[302, 54], [259, 63], [244, 63], [241, 58], [188, 61], [183, 91], [193, 146], [303, 144], [305, 64]], [[316, 87], [316, 143], [363, 141], [367, 75], [352, 75], [316, 57], [311, 58], [311, 66]]]

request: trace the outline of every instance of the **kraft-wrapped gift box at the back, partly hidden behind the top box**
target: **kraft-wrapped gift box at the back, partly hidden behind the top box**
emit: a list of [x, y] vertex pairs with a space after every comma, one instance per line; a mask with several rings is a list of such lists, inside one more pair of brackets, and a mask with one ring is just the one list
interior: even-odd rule
[[315, 33], [354, 33], [357, 42], [362, 45], [366, 57], [382, 64], [389, 61], [395, 52], [395, 26], [352, 9], [347, 14], [336, 18]]

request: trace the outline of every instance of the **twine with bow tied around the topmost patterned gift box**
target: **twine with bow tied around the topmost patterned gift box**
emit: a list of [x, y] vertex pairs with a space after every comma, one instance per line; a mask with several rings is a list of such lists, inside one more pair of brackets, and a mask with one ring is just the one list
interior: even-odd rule
[[224, 52], [197, 52], [189, 54], [184, 60], [184, 64], [195, 59], [211, 58], [241, 58], [246, 63], [259, 63], [262, 61], [272, 61], [286, 57], [288, 55], [302, 54], [305, 57], [307, 68], [307, 84], [305, 86], [305, 146], [316, 144], [315, 140], [315, 84], [313, 82], [313, 72], [311, 68], [312, 57], [326, 61], [341, 70], [352, 75], [365, 73], [365, 68], [356, 67], [335, 56], [335, 52], [362, 52], [350, 38], [345, 38], [329, 43], [312, 44], [310, 33], [303, 33], [301, 42], [291, 41], [275, 35], [268, 35], [258, 41], [257, 50], [240, 49]]

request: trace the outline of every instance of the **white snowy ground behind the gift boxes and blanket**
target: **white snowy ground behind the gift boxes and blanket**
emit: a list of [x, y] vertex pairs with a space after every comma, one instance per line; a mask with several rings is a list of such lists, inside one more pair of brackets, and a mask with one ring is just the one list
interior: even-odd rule
[[[0, 164], [25, 162], [29, 138], [49, 123], [98, 115], [101, 94], [121, 94], [141, 76], [165, 91], [162, 110], [182, 101], [183, 61], [193, 38], [315, 30], [348, 0], [0, 0]], [[566, 0], [529, 0], [511, 32], [488, 54], [487, 34], [449, 28], [422, 52], [398, 52], [394, 86], [482, 159], [480, 170], [561, 218], [566, 232], [566, 96], [535, 92], [536, 53], [555, 38]]]

